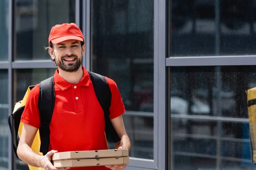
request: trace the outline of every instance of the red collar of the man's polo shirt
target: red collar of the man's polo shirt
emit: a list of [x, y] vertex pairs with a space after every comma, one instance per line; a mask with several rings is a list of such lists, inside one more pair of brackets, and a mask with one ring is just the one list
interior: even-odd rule
[[[77, 85], [81, 85], [84, 87], [89, 87], [90, 85], [90, 76], [88, 74], [88, 71], [82, 66], [83, 69], [83, 77], [80, 80], [80, 82], [77, 83]], [[62, 91], [65, 91], [67, 88], [70, 88], [73, 84], [70, 82], [67, 82], [59, 75], [59, 70], [57, 69], [55, 71], [55, 74], [53, 75], [54, 83], [58, 86]]]

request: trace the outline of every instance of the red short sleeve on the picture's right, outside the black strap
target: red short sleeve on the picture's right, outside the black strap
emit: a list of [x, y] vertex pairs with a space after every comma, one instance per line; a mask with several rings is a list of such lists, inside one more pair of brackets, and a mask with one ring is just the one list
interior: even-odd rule
[[114, 119], [122, 115], [123, 113], [125, 113], [125, 106], [122, 102], [122, 97], [118, 90], [116, 82], [114, 82], [112, 79], [109, 79], [108, 77], [106, 77], [106, 79], [108, 81], [108, 85], [110, 87], [111, 95], [112, 95], [111, 105], [109, 109], [110, 111], [109, 118]]

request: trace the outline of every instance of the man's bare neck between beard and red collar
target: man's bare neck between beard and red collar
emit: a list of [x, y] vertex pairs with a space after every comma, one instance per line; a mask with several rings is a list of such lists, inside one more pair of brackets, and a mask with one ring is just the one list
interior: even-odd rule
[[62, 77], [64, 80], [72, 84], [76, 84], [80, 82], [83, 77], [83, 69], [81, 66], [76, 72], [72, 72], [72, 73], [63, 71], [60, 68], [58, 70], [59, 70], [60, 77]]

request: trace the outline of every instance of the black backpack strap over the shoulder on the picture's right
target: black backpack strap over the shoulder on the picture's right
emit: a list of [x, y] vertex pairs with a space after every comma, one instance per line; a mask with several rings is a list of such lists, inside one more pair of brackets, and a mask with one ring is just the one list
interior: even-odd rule
[[109, 118], [109, 108], [111, 105], [112, 95], [108, 82], [102, 75], [90, 71], [88, 71], [88, 73], [90, 75], [90, 79], [92, 80], [96, 97], [99, 101], [99, 104], [102, 107], [102, 110], [104, 111], [106, 138], [108, 140], [108, 136], [110, 136], [114, 143], [119, 142], [121, 139], [119, 135], [116, 133], [116, 130], [113, 127]]

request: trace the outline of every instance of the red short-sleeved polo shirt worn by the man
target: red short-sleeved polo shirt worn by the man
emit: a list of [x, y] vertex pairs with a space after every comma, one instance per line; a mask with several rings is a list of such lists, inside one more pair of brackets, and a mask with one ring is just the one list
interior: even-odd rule
[[[93, 84], [87, 70], [82, 66], [83, 77], [77, 84], [65, 81], [54, 74], [55, 107], [50, 128], [50, 150], [58, 152], [76, 150], [108, 149], [105, 139], [104, 112], [94, 93]], [[125, 112], [116, 83], [106, 77], [112, 93], [110, 119]], [[38, 111], [39, 84], [29, 93], [21, 122], [40, 127]], [[73, 168], [72, 168], [73, 169]], [[84, 170], [109, 170], [105, 166], [79, 167]]]

